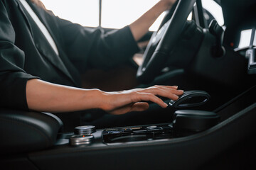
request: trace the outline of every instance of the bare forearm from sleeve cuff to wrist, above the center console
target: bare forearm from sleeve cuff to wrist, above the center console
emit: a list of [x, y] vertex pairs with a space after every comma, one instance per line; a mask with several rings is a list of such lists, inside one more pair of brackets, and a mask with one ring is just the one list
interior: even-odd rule
[[101, 93], [97, 89], [78, 89], [39, 79], [31, 79], [26, 85], [28, 108], [33, 111], [54, 113], [100, 108], [97, 99]]

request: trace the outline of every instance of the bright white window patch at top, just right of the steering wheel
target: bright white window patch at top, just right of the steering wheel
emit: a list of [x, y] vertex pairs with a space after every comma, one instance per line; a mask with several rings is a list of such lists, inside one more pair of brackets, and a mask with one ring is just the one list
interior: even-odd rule
[[202, 0], [202, 5], [213, 15], [220, 26], [224, 25], [223, 11], [219, 4], [213, 0]]

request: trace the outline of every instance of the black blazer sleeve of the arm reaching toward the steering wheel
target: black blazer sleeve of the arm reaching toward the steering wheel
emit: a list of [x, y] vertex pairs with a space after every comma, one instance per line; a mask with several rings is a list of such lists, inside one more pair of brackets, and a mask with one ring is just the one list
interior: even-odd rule
[[58, 18], [70, 60], [109, 68], [127, 61], [139, 51], [129, 26], [105, 33], [102, 28], [85, 28]]

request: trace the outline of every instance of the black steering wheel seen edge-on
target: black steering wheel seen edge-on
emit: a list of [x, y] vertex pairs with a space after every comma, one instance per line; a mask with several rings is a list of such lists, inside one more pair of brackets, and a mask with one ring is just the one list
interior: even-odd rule
[[[165, 16], [161, 28], [154, 32], [143, 55], [143, 62], [137, 71], [137, 79], [143, 84], [154, 80], [164, 68], [167, 58], [181, 37], [189, 13], [196, 0], [178, 0]], [[171, 12], [173, 11], [173, 12]]]

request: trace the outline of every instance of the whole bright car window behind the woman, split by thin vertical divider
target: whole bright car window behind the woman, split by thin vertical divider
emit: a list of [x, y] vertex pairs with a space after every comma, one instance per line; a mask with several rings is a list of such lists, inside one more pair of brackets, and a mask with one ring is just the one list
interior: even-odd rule
[[[159, 0], [41, 0], [56, 16], [82, 26], [122, 28], [142, 16]], [[101, 6], [100, 6], [101, 4]], [[101, 8], [100, 8], [101, 7]], [[101, 11], [100, 11], [101, 9]], [[101, 15], [100, 15], [101, 12]], [[157, 30], [164, 13], [149, 28]]]

